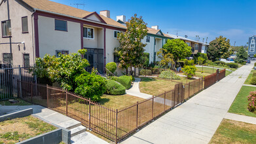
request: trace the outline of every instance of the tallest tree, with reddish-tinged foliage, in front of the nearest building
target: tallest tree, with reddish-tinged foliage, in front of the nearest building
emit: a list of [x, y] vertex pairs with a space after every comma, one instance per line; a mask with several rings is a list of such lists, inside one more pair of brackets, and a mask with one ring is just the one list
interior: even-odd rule
[[146, 44], [141, 43], [141, 40], [147, 35], [147, 24], [141, 16], [137, 18], [137, 14], [134, 14], [126, 22], [126, 27], [126, 32], [117, 36], [120, 47], [116, 48], [115, 52], [120, 56], [119, 67], [127, 71], [128, 67], [139, 67], [143, 63]]

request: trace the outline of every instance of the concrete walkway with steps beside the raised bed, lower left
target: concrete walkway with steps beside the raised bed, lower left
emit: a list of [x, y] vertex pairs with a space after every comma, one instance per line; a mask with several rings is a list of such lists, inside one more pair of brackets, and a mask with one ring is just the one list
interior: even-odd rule
[[26, 105], [26, 106], [4, 106], [0, 105], [0, 114], [13, 113], [15, 111], [21, 111], [24, 109], [33, 108], [33, 116], [37, 117], [49, 124], [54, 126], [67, 128], [71, 130], [71, 143], [82, 144], [82, 143], [107, 143], [103, 139], [96, 137], [90, 132], [84, 132], [86, 129], [81, 126], [81, 122], [74, 120], [73, 118], [67, 117], [56, 111], [52, 111], [40, 105]]

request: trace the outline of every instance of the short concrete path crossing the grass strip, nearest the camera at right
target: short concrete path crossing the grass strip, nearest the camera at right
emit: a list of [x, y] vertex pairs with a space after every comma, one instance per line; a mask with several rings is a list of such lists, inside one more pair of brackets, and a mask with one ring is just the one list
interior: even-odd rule
[[236, 120], [240, 122], [247, 122], [249, 124], [256, 124], [256, 117], [248, 117], [245, 115], [237, 115], [234, 113], [227, 113], [224, 118], [229, 120]]

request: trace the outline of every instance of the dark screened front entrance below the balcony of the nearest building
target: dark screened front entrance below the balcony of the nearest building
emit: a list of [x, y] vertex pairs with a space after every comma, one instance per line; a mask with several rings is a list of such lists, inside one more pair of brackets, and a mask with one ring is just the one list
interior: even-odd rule
[[86, 48], [86, 50], [84, 58], [90, 63], [90, 66], [86, 67], [86, 71], [91, 72], [94, 67], [94, 69], [98, 69], [99, 73], [103, 73], [103, 49]]

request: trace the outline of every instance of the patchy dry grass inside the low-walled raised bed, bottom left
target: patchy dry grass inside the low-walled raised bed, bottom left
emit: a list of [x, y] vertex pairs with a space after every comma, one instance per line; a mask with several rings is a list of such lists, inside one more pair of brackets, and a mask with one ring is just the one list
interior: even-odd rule
[[0, 143], [18, 143], [35, 135], [56, 130], [56, 127], [33, 116], [0, 122]]

